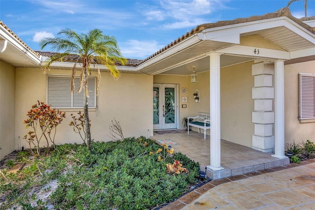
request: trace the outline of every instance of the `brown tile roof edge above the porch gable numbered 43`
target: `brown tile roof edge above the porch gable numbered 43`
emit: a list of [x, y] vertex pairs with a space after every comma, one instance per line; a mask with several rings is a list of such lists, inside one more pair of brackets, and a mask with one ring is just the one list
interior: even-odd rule
[[157, 51], [153, 55], [151, 55], [148, 58], [144, 59], [139, 64], [142, 64], [142, 63], [150, 60], [151, 58], [157, 56], [158, 54], [160, 54], [163, 51], [169, 49], [170, 47], [178, 44], [179, 42], [183, 41], [184, 39], [188, 38], [189, 36], [194, 35], [196, 33], [199, 33], [200, 31], [203, 31], [205, 29], [217, 28], [217, 27], [221, 27], [221, 26], [228, 26], [228, 25], [233, 25], [233, 24], [246, 23], [246, 22], [252, 22], [252, 21], [258, 21], [258, 20], [276, 18], [276, 17], [284, 17], [284, 16], [288, 17], [289, 19], [293, 20], [294, 22], [296, 22], [300, 26], [304, 27], [305, 29], [307, 29], [311, 33], [315, 34], [315, 28], [312, 28], [311, 26], [309, 26], [309, 25], [307, 25], [307, 24], [302, 22], [302, 21], [306, 21], [306, 20], [315, 20], [315, 16], [298, 19], [298, 18], [296, 18], [296, 17], [291, 15], [291, 11], [290, 11], [290, 9], [288, 7], [284, 7], [284, 8], [282, 8], [282, 9], [276, 11], [276, 12], [267, 13], [267, 14], [261, 15], [261, 16], [252, 16], [252, 17], [248, 17], [248, 18], [237, 18], [237, 19], [234, 19], [234, 20], [226, 20], [226, 21], [219, 21], [219, 22], [216, 22], [216, 23], [206, 23], [206, 24], [199, 25], [195, 29], [192, 29], [186, 35], [182, 35], [181, 37], [175, 39], [173, 42], [171, 42], [167, 46], [163, 47], [162, 49], [160, 49], [159, 51]]

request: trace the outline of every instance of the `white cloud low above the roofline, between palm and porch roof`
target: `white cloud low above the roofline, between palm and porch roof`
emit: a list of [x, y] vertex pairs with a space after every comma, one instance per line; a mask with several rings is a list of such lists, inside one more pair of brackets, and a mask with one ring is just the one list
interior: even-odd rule
[[137, 59], [145, 59], [163, 47], [155, 40], [140, 41], [135, 39], [128, 40], [120, 45], [124, 57]]

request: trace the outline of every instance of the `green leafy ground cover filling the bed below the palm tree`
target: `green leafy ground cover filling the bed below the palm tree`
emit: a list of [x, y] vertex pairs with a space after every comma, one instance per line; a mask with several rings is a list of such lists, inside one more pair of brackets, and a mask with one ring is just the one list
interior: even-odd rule
[[[199, 178], [199, 163], [181, 153], [159, 161], [163, 149], [141, 137], [93, 142], [92, 150], [63, 144], [41, 156], [19, 152], [0, 170], [0, 209], [153, 209], [180, 197]], [[174, 160], [187, 172], [168, 172]], [[19, 163], [27, 165], [8, 173]]]

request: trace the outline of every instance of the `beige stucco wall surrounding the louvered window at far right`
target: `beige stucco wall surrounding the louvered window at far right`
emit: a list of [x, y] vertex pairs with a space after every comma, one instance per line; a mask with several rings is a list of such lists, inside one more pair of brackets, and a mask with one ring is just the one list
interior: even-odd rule
[[285, 142], [315, 141], [315, 122], [300, 123], [298, 73], [315, 73], [315, 61], [284, 66]]

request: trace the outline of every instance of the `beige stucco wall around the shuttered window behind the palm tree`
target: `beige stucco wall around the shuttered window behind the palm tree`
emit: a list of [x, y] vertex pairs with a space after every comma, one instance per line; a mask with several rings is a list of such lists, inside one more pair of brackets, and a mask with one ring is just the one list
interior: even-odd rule
[[[48, 73], [70, 75], [71, 71], [51, 70]], [[46, 80], [47, 75], [43, 74], [41, 69], [17, 68], [16, 138], [19, 136], [22, 138], [28, 132], [23, 124], [27, 111], [37, 100], [46, 101]], [[152, 136], [152, 88], [153, 76], [150, 75], [123, 73], [115, 81], [109, 73], [101, 72], [97, 108], [89, 111], [92, 139], [112, 140], [109, 138], [111, 136], [109, 126], [114, 118], [120, 122], [125, 137]], [[57, 144], [82, 142], [79, 135], [68, 126], [71, 120], [70, 114], [75, 114], [77, 111], [77, 109], [66, 111], [66, 118], [57, 128], [55, 140]], [[24, 145], [28, 146], [26, 142]]]

